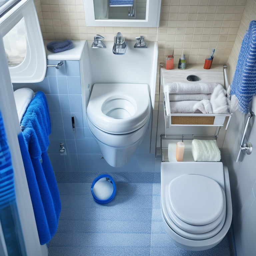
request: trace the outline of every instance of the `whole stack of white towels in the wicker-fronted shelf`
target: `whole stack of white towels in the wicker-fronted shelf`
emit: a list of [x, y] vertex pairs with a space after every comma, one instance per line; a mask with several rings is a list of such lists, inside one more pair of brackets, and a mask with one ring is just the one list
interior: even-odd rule
[[167, 83], [171, 113], [228, 114], [230, 102], [219, 83]]

